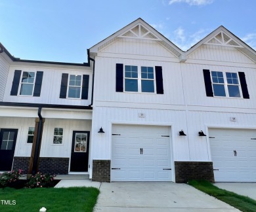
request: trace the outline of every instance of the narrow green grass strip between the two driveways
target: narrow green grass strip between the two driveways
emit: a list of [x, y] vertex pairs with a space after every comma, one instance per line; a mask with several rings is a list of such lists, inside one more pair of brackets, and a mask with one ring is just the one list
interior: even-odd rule
[[215, 198], [228, 203], [229, 205], [232, 205], [233, 207], [236, 207], [237, 209], [240, 209], [240, 211], [256, 211], [256, 201], [251, 198], [247, 198], [246, 196], [238, 195], [233, 192], [217, 188], [217, 186], [214, 186], [207, 181], [193, 180], [189, 181], [188, 184], [194, 186], [202, 192], [205, 192], [206, 194], [214, 196]]

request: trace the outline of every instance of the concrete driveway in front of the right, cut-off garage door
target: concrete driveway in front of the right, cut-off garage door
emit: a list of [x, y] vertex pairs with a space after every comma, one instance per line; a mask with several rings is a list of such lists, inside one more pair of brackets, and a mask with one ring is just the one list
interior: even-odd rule
[[214, 185], [256, 200], [256, 183], [215, 183]]

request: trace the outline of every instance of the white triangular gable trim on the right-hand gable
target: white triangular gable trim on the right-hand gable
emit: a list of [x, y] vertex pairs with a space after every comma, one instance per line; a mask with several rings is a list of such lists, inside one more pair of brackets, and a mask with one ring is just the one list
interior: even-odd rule
[[240, 45], [237, 41], [234, 41], [234, 39], [224, 33], [224, 31], [219, 32], [217, 35], [215, 35], [215, 37], [211, 37], [211, 39], [206, 41], [204, 44], [244, 48], [244, 46]]

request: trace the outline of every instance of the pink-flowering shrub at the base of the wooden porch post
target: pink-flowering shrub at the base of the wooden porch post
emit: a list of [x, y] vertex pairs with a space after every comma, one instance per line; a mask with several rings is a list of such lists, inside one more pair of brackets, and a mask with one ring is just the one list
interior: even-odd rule
[[26, 188], [46, 188], [53, 186], [55, 175], [43, 174], [41, 172], [37, 172], [35, 175], [28, 179], [28, 183], [26, 184]]

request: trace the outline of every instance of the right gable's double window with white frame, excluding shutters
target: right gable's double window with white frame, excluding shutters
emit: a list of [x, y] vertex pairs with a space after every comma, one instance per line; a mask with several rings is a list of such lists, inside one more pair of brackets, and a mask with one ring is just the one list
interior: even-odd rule
[[241, 97], [237, 73], [211, 71], [214, 96]]

